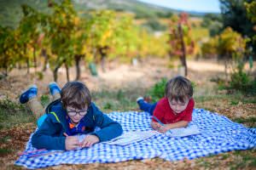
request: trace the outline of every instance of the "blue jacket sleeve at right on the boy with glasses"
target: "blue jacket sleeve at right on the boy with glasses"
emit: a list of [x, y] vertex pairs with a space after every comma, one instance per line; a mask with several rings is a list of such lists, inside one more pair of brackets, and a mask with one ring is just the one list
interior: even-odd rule
[[114, 139], [123, 133], [123, 129], [119, 122], [114, 122], [107, 115], [103, 114], [96, 105], [92, 105], [92, 107], [96, 126], [101, 127], [101, 130], [92, 134], [95, 134], [101, 142]]

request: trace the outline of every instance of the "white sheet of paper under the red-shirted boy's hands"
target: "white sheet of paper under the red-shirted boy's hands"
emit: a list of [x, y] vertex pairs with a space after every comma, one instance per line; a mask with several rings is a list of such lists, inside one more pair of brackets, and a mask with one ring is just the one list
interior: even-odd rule
[[196, 125], [190, 125], [189, 127], [173, 128], [166, 132], [167, 136], [171, 137], [183, 137], [201, 133]]

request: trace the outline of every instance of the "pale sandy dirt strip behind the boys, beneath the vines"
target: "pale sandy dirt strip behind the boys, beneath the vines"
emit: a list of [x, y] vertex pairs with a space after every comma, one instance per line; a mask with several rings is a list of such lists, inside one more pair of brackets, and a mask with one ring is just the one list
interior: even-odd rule
[[[171, 78], [177, 76], [179, 71], [177, 68], [168, 68], [168, 59], [144, 59], [143, 63], [137, 65], [125, 65], [111, 62], [107, 64], [107, 70], [102, 72], [101, 68], [97, 68], [98, 77], [90, 76], [90, 71], [84, 66], [81, 67], [81, 80], [90, 88], [90, 91], [102, 88], [148, 88], [162, 77]], [[177, 65], [177, 62], [172, 66]], [[198, 94], [206, 94], [203, 91], [206, 87], [212, 87], [209, 80], [212, 77], [223, 76], [224, 65], [218, 64], [216, 61], [194, 61], [189, 60], [189, 79], [196, 82], [198, 86], [204, 86]], [[40, 68], [38, 68], [40, 70]], [[18, 99], [22, 90], [29, 85], [35, 83], [38, 85], [38, 95], [49, 93], [47, 85], [53, 81], [52, 72], [48, 69], [44, 72], [43, 80], [39, 80], [38, 76], [33, 74], [35, 71], [31, 68], [31, 74], [26, 73], [26, 69], [13, 70], [9, 73], [9, 77], [5, 81], [0, 81], [0, 99]], [[200, 72], [200, 74], [199, 74]], [[61, 68], [58, 74], [58, 83], [62, 87], [66, 82], [65, 68]], [[75, 77], [75, 69], [70, 69], [70, 79]], [[207, 84], [206, 84], [207, 83]], [[207, 85], [207, 86], [206, 86]]]

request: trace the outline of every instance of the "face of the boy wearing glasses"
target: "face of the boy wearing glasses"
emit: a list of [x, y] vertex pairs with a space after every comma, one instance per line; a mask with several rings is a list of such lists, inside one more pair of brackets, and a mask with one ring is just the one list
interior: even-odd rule
[[87, 109], [78, 110], [67, 106], [67, 116], [70, 117], [73, 123], [79, 123], [86, 113]]

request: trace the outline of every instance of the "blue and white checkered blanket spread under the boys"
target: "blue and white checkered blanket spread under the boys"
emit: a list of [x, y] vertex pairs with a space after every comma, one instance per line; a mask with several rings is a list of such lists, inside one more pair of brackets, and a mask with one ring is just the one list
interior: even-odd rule
[[[124, 131], [151, 129], [150, 116], [147, 112], [113, 112], [108, 116], [120, 122]], [[65, 151], [49, 156], [31, 158], [20, 156], [15, 165], [38, 168], [60, 164], [141, 160], [156, 156], [167, 161], [177, 161], [256, 147], [256, 128], [247, 128], [239, 123], [231, 122], [225, 116], [195, 109], [193, 121], [190, 124], [199, 127], [201, 134], [176, 138], [168, 137], [165, 134], [156, 134], [149, 139], [125, 146], [100, 143], [90, 148]], [[26, 151], [28, 150], [34, 150], [31, 139], [26, 144]]]

